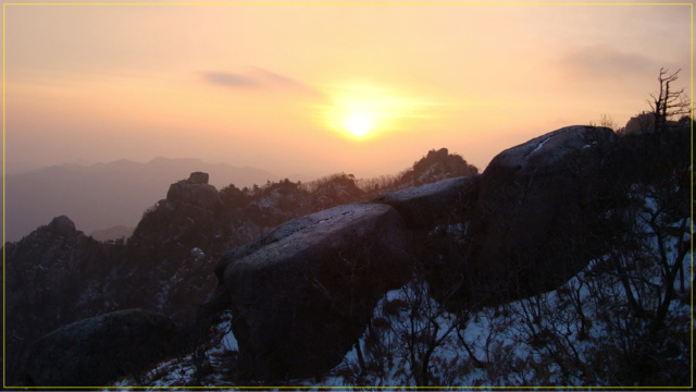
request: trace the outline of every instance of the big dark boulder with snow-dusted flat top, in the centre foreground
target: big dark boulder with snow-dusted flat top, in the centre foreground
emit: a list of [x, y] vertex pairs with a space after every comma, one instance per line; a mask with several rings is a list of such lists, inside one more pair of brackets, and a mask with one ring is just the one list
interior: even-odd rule
[[287, 222], [221, 259], [243, 377], [286, 380], [336, 366], [388, 290], [410, 278], [399, 213], [351, 204]]

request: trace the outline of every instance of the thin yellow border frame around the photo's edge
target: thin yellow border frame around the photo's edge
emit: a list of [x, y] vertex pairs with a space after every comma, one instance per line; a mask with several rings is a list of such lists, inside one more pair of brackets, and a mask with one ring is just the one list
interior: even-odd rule
[[310, 390], [310, 389], [330, 389], [330, 390], [352, 390], [352, 389], [380, 389], [380, 390], [442, 390], [442, 389], [457, 389], [457, 390], [686, 390], [694, 388], [694, 286], [693, 286], [693, 271], [694, 271], [694, 183], [692, 182], [692, 383], [691, 387], [8, 387], [5, 384], [5, 7], [7, 5], [689, 5], [691, 9], [691, 111], [692, 111], [692, 179], [694, 177], [694, 4], [686, 2], [167, 2], [167, 3], [151, 3], [151, 2], [103, 2], [103, 3], [80, 3], [80, 2], [57, 2], [57, 3], [3, 3], [2, 4], [2, 387], [8, 390], [87, 390], [87, 389], [105, 389], [105, 390], [167, 390], [167, 389], [183, 389], [183, 390]]

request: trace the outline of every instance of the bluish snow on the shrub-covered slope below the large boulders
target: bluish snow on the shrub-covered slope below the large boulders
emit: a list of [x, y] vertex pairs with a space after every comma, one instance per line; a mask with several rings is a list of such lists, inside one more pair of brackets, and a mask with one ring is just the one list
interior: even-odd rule
[[[634, 234], [644, 238], [643, 245], [638, 254], [622, 257], [629, 267], [635, 265], [635, 257], [651, 260], [651, 264], [646, 267], [649, 269], [635, 272], [645, 275], [632, 278], [631, 290], [639, 291], [633, 295], [638, 295], [644, 306], [656, 309], [663, 296], [657, 295], [655, 299], [649, 299], [649, 296], [655, 295], [650, 290], [663, 284], [663, 275], [658, 271], [660, 254], [663, 253], [669, 262], [681, 261], [684, 274], [688, 278], [684, 282], [684, 294], [679, 294], [679, 299], [670, 304], [667, 323], [671, 331], [681, 331], [682, 336], [688, 336], [688, 320], [693, 313], [686, 299], [694, 279], [693, 257], [687, 254], [682, 260], [675, 258], [680, 241], [688, 242], [691, 236], [682, 234], [682, 240], [680, 236], [663, 238], [660, 247], [655, 230], [650, 226], [650, 222], [656, 221], [656, 213], [660, 211], [660, 203], [644, 195], [636, 197], [643, 208], [634, 217]], [[661, 219], [658, 217], [657, 221]], [[671, 223], [673, 232], [678, 229], [683, 232], [684, 226], [691, 228], [691, 221]], [[559, 255], [559, 258], [570, 256], [572, 255]], [[380, 302], [373, 315], [373, 323], [376, 320], [380, 320], [380, 324], [386, 323], [386, 331], [374, 333], [374, 329], [368, 330], [359, 343], [366, 369], [361, 371], [356, 346], [322, 384], [414, 387], [410, 350], [405, 348], [409, 341], [405, 339], [405, 333], [434, 331], [435, 341], [438, 342], [430, 358], [434, 385], [617, 385], [612, 375], [595, 371], [592, 363], [601, 358], [600, 353], [605, 347], [622, 347], [631, 344], [626, 340], [642, 339], [639, 334], [631, 335], [631, 329], [638, 330], [637, 323], [648, 321], [641, 321], [629, 315], [631, 309], [626, 303], [625, 285], [621, 279], [606, 270], [610, 257], [611, 255], [606, 255], [593, 260], [584, 271], [556, 291], [485, 308], [471, 315], [460, 315], [461, 318], [443, 311], [430, 297], [425, 301], [418, 299], [414, 291], [420, 290], [426, 294], [427, 287], [418, 289], [409, 284], [391, 291]], [[674, 289], [682, 293], [680, 286], [681, 282], [675, 281]], [[398, 314], [385, 315], [385, 305], [396, 302], [407, 306], [401, 307]], [[410, 317], [410, 309], [414, 308], [420, 310], [415, 319]], [[384, 321], [385, 318], [388, 322]], [[461, 328], [452, 326], [459, 321]], [[381, 346], [374, 346], [375, 335], [380, 338]], [[423, 353], [424, 348], [426, 345], [415, 345], [417, 353]], [[680, 350], [683, 351], [684, 347]], [[388, 354], [384, 355], [384, 351]], [[381, 353], [386, 359], [380, 356]], [[685, 357], [687, 355], [688, 353], [683, 352], [667, 360], [688, 362]], [[303, 384], [315, 385], [312, 381]]]

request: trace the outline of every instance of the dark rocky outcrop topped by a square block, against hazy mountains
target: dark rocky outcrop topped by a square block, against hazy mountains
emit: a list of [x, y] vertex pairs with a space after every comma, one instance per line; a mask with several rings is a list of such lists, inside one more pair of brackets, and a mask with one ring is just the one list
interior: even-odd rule
[[228, 220], [207, 173], [194, 172], [172, 184], [128, 240], [124, 269], [130, 285], [139, 289], [128, 292], [124, 305], [163, 311], [192, 328], [197, 306], [215, 289], [213, 271], [227, 250]]

